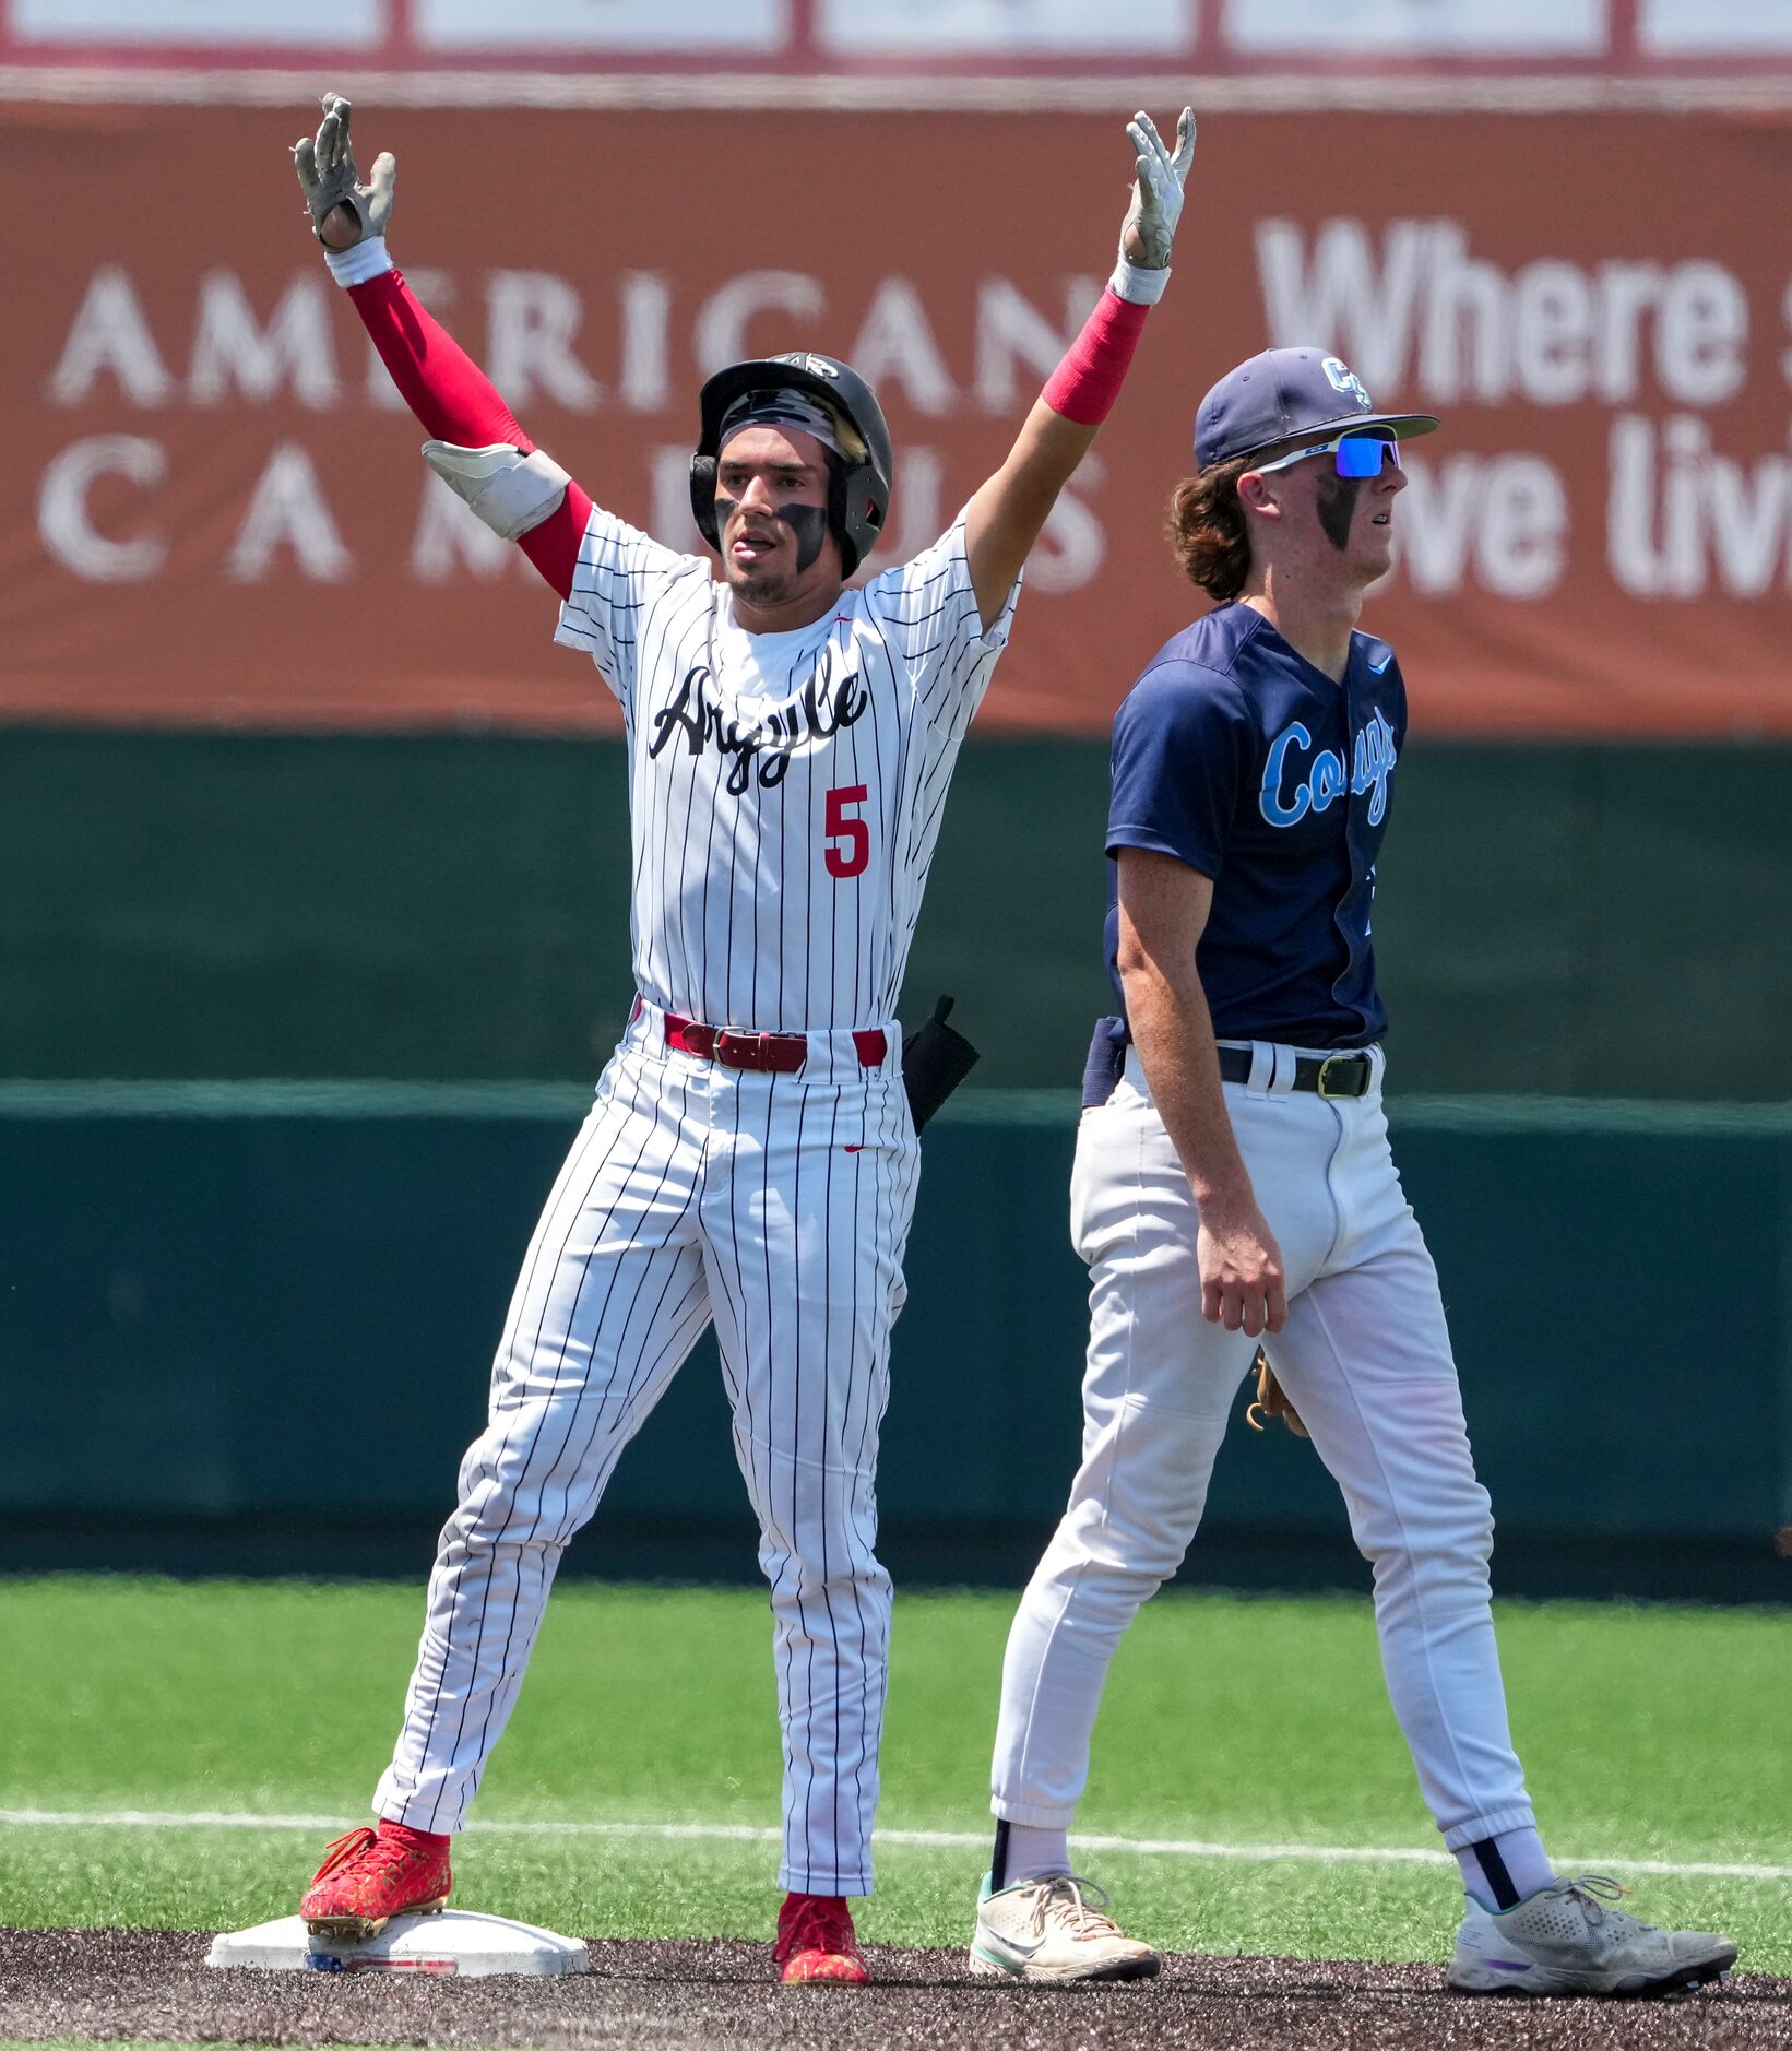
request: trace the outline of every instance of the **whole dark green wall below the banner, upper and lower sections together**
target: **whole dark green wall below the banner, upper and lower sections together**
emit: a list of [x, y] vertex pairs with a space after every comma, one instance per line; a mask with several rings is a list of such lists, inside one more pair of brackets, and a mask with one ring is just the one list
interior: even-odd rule
[[[1792, 1592], [1788, 792], [1743, 742], [1400, 765], [1390, 1103], [1507, 1585]], [[1103, 806], [1099, 745], [974, 738], [904, 1001], [984, 1050], [886, 1434], [892, 1559], [953, 1579], [1076, 1452]], [[408, 1571], [627, 1009], [619, 747], [8, 728], [0, 872], [0, 1567]], [[1312, 1452], [1234, 1438], [1197, 1571], [1347, 1559]], [[574, 1563], [748, 1555], [705, 1343]]]

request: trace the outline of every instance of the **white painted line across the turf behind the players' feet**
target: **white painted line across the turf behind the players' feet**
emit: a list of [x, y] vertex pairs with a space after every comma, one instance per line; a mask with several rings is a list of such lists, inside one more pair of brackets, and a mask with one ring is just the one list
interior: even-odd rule
[[[250, 1815], [236, 1809], [0, 1809], [0, 1825], [49, 1829], [310, 1829], [338, 1832], [338, 1815]], [[779, 1844], [783, 1834], [757, 1823], [472, 1823], [484, 1838], [656, 1838], [701, 1844]], [[982, 1852], [988, 1829], [880, 1829], [880, 1846], [929, 1852]], [[1204, 1838], [1105, 1838], [1072, 1834], [1078, 1852], [1134, 1858], [1228, 1858], [1240, 1864], [1314, 1866], [1437, 1866], [1450, 1852], [1413, 1844], [1210, 1844]], [[1624, 1858], [1599, 1854], [1556, 1860], [1573, 1873], [1683, 1875], [1700, 1881], [1792, 1881], [1792, 1866], [1757, 1866], [1706, 1858]]]

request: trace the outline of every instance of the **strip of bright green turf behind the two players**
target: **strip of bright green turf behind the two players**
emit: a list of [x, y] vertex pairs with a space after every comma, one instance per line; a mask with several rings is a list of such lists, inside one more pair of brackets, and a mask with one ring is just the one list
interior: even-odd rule
[[[898, 1596], [873, 1942], [966, 1934], [1011, 1614], [1009, 1596]], [[0, 1924], [289, 1914], [332, 1829], [238, 1819], [365, 1817], [418, 1624], [420, 1590], [385, 1583], [0, 1579]], [[1792, 1618], [1507, 1604], [1499, 1624], [1556, 1864], [1610, 1862], [1648, 1920], [1726, 1928], [1745, 1969], [1792, 1973], [1784, 1877], [1628, 1864], [1792, 1868]], [[769, 1932], [769, 1633], [750, 1592], [562, 1587], [455, 1854], [457, 1905], [578, 1934]], [[105, 1821], [119, 1811], [160, 1821]], [[1085, 1852], [1128, 1928], [1169, 1948], [1441, 1959], [1454, 1936], [1452, 1862], [1318, 1856], [1437, 1846], [1361, 1600], [1150, 1604], [1115, 1661], [1078, 1832], [1290, 1852]]]

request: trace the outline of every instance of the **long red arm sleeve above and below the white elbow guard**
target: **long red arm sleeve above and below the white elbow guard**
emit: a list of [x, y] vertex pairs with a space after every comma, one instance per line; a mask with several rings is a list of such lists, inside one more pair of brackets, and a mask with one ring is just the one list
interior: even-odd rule
[[[381, 271], [365, 285], [351, 285], [349, 297], [404, 404], [433, 441], [453, 441], [461, 449], [508, 441], [525, 455], [535, 447], [492, 379], [422, 306], [402, 271]], [[568, 484], [547, 519], [519, 537], [517, 546], [562, 599], [572, 595], [588, 519], [588, 494]]]

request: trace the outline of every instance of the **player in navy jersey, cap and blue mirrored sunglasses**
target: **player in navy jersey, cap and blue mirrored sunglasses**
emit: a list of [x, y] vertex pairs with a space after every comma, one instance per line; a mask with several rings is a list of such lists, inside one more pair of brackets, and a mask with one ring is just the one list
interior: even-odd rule
[[1392, 562], [1400, 443], [1435, 427], [1378, 412], [1316, 349], [1253, 357], [1195, 416], [1171, 531], [1216, 609], [1113, 722], [1119, 1013], [1095, 1030], [1070, 1190], [1083, 1464], [1009, 1635], [978, 1973], [1156, 1971], [1070, 1873], [1066, 1834], [1107, 1661], [1195, 1534], [1259, 1348], [1259, 1405], [1312, 1438], [1374, 1565], [1388, 1694], [1466, 1889], [1450, 1985], [1675, 1994], [1737, 1957], [1544, 1856], [1493, 1637], [1493, 1518], [1388, 1153], [1372, 911], [1407, 691], [1357, 615]]

